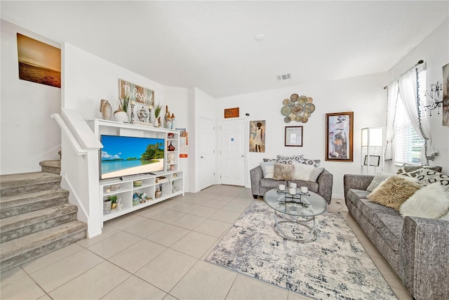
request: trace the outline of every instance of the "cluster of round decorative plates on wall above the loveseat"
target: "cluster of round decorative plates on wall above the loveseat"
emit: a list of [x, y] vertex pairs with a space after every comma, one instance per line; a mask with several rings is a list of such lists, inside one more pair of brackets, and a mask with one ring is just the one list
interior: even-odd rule
[[299, 96], [297, 93], [293, 93], [290, 99], [282, 100], [281, 115], [284, 116], [283, 122], [307, 123], [311, 113], [315, 111], [315, 105], [312, 102], [314, 102], [314, 99], [311, 97]]

